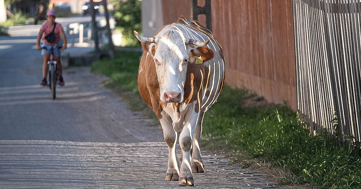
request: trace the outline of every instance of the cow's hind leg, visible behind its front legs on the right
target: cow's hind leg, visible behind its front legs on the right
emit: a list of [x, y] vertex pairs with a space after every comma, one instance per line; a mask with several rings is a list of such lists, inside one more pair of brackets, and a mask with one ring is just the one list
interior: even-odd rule
[[199, 140], [202, 133], [202, 122], [203, 122], [204, 112], [201, 112], [199, 115], [198, 123], [193, 134], [193, 150], [192, 150], [192, 172], [204, 172], [204, 165], [200, 153]]

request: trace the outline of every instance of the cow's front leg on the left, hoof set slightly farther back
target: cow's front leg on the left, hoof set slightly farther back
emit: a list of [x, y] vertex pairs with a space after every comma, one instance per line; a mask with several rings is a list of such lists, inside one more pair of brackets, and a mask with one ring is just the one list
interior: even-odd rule
[[168, 155], [168, 170], [165, 177], [165, 181], [175, 181], [179, 179], [179, 168], [177, 163], [177, 156], [175, 155], [175, 142], [177, 141], [177, 133], [174, 131], [171, 119], [167, 116], [163, 116], [159, 120], [162, 129], [165, 143], [167, 143], [169, 155]]

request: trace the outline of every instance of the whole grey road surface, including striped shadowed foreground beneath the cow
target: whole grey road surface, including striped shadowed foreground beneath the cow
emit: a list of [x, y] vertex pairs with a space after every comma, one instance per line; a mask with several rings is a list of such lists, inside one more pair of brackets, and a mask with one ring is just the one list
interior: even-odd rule
[[[39, 27], [16, 26], [12, 37], [0, 36], [0, 189], [180, 187], [164, 181], [168, 149], [162, 131], [105, 89], [107, 77], [89, 67], [64, 69], [65, 86], [51, 100], [49, 88], [39, 85]], [[203, 158], [206, 172], [194, 175], [194, 188], [274, 186], [223, 157]]]

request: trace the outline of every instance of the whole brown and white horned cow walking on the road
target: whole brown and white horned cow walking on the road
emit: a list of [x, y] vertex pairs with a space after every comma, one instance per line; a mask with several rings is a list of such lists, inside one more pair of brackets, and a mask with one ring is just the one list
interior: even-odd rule
[[[198, 144], [203, 115], [216, 102], [225, 80], [222, 48], [209, 30], [184, 17], [162, 27], [154, 37], [134, 34], [145, 50], [139, 93], [158, 117], [169, 149], [165, 181], [194, 185], [192, 172], [204, 172]], [[181, 132], [179, 163], [177, 132]]]

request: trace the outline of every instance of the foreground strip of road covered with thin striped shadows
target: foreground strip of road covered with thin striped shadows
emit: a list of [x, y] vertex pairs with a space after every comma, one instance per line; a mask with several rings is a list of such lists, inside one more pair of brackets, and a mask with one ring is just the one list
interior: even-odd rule
[[[203, 154], [203, 159], [205, 173], [193, 174], [194, 188], [275, 188], [258, 171], [227, 165], [220, 156]], [[0, 140], [0, 188], [182, 187], [164, 181], [167, 161], [164, 142]]]

